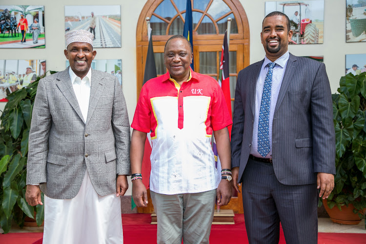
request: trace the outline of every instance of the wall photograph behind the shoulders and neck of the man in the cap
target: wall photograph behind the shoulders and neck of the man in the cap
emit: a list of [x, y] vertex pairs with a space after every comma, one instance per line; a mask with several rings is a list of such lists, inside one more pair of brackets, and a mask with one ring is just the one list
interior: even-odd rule
[[[69, 65], [69, 61], [66, 60], [66, 67]], [[116, 76], [122, 85], [122, 60], [93, 60], [91, 68]]]

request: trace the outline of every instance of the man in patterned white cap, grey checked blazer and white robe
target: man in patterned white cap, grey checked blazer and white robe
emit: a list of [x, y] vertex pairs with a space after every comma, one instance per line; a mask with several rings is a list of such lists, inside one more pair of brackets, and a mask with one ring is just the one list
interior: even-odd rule
[[70, 66], [38, 84], [26, 200], [43, 204], [45, 194], [43, 243], [122, 243], [119, 196], [130, 174], [122, 88], [116, 77], [91, 69], [93, 34], [65, 36]]

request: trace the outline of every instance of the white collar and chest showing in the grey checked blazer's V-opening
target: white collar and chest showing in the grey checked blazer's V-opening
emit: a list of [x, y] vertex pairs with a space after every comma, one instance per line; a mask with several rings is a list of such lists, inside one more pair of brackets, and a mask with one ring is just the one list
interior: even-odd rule
[[72, 87], [74, 88], [76, 99], [79, 103], [82, 117], [84, 117], [84, 122], [86, 122], [89, 109], [91, 68], [89, 69], [86, 76], [82, 78], [82, 80], [74, 73], [71, 68], [69, 68], [69, 76]]

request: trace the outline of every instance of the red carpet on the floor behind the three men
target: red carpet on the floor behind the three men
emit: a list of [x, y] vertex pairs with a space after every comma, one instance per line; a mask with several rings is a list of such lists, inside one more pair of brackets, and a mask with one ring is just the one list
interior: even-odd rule
[[[156, 224], [150, 223], [148, 214], [122, 214], [123, 241], [125, 244], [156, 243]], [[247, 244], [244, 215], [234, 217], [235, 224], [212, 225], [210, 244]], [[1, 244], [42, 244], [42, 233], [9, 233], [0, 235]], [[319, 233], [318, 244], [365, 244], [366, 234]], [[285, 244], [281, 229], [280, 244]]]

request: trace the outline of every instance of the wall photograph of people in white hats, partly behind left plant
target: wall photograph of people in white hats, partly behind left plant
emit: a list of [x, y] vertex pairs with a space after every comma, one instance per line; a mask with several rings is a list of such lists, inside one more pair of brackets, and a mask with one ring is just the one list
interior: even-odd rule
[[0, 60], [0, 101], [45, 73], [45, 60]]

